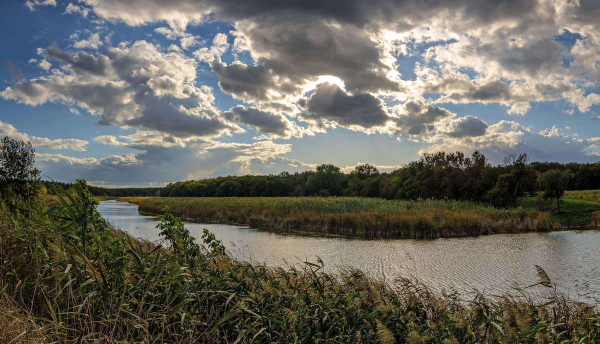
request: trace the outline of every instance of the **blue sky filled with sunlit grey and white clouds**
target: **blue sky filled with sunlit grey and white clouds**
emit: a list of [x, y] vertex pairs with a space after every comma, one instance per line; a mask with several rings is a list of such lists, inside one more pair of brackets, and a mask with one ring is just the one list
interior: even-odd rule
[[4, 0], [0, 136], [111, 187], [595, 162], [598, 23], [597, 0]]

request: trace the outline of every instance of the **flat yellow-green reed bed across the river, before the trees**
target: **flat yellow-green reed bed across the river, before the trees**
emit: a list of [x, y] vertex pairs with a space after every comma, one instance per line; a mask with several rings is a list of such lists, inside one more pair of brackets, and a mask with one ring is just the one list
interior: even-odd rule
[[557, 228], [550, 214], [497, 210], [461, 201], [388, 201], [355, 197], [280, 198], [119, 198], [160, 214], [200, 221], [241, 223], [255, 228], [307, 229], [371, 238], [439, 238], [547, 231]]

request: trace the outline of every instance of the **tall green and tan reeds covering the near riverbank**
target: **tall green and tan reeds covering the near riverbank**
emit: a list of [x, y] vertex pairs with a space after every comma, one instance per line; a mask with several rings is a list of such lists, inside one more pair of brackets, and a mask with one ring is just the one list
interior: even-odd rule
[[194, 243], [168, 210], [159, 228], [165, 249], [99, 225], [85, 198], [62, 199], [37, 222], [0, 212], [2, 343], [600, 340], [597, 301], [557, 294], [541, 268], [546, 297], [518, 289], [467, 301], [400, 278], [392, 287], [352, 269], [331, 276], [322, 262], [274, 269], [238, 262], [208, 231], [203, 246]]

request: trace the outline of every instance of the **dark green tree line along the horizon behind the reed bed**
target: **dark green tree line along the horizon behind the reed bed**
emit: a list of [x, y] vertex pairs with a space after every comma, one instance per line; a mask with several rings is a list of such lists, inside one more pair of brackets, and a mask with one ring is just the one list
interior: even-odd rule
[[108, 189], [89, 187], [97, 196], [263, 197], [364, 196], [385, 199], [457, 199], [497, 207], [514, 205], [518, 197], [539, 191], [538, 177], [562, 171], [566, 190], [600, 189], [596, 163], [529, 162], [527, 154], [512, 154], [492, 166], [484, 154], [462, 152], [424, 154], [393, 172], [360, 164], [349, 174], [332, 164], [316, 170], [278, 175], [243, 175], [181, 181], [166, 187]]

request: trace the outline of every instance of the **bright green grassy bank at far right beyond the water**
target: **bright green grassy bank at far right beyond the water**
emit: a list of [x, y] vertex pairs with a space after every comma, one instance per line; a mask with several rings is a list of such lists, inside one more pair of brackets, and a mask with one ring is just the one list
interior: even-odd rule
[[600, 204], [595, 202], [563, 198], [560, 205], [560, 214], [556, 207], [556, 201], [553, 200], [524, 197], [519, 199], [519, 205], [523, 208], [553, 214], [552, 219], [565, 227], [600, 225]]

